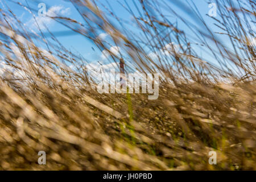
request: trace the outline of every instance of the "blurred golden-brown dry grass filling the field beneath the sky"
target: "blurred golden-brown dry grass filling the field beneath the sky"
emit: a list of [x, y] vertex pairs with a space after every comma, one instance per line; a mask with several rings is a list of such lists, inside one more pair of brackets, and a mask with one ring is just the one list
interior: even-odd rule
[[[196, 9], [189, 13], [199, 25], [184, 21], [195, 35], [178, 30], [159, 9], [183, 19], [164, 1], [138, 2], [142, 17], [126, 5], [144, 40], [114, 27], [94, 1], [72, 1], [85, 24], [51, 17], [100, 49], [110, 46], [97, 39], [96, 30], [107, 32], [112, 46], [121, 47], [129, 61], [127, 71], [160, 73], [159, 98], [152, 101], [146, 94], [99, 94], [86, 61], [53, 35], [43, 43], [44, 35], [32, 39], [11, 10], [1, 10], [0, 55], [6, 69], [0, 77], [0, 169], [255, 170], [256, 67], [250, 43], [255, 2], [236, 1], [239, 9], [226, 9], [230, 2], [216, 1], [221, 16], [215, 19], [219, 33], [233, 43], [229, 47]], [[215, 55], [218, 65], [197, 55], [188, 37]], [[170, 42], [179, 43], [181, 50], [161, 53]], [[109, 61], [119, 60], [109, 53]], [[47, 165], [37, 163], [41, 150], [47, 153]], [[208, 163], [211, 150], [217, 152], [217, 165]]]

